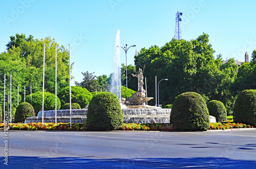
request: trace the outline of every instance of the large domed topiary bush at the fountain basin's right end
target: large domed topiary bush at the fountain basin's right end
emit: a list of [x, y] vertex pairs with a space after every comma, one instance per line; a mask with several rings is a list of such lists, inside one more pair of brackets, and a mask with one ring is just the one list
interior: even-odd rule
[[195, 92], [179, 95], [172, 107], [172, 123], [177, 130], [203, 131], [210, 127], [209, 112], [203, 97]]

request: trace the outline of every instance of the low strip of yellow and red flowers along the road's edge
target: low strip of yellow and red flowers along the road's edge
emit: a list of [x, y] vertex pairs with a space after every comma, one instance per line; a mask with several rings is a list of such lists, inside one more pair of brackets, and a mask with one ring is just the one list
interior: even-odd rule
[[[0, 123], [0, 128], [4, 127], [4, 123]], [[10, 130], [87, 130], [82, 123], [10, 123]], [[232, 129], [232, 128], [253, 128], [253, 126], [242, 123], [210, 123], [210, 130], [216, 129]], [[148, 130], [148, 131], [175, 131], [172, 124], [122, 124], [117, 130]]]

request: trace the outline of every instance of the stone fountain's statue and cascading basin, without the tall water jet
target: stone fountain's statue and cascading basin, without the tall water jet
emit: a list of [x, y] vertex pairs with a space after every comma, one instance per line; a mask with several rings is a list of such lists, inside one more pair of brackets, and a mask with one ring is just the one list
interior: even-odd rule
[[[123, 111], [123, 123], [169, 123], [170, 111], [169, 108], [160, 108], [150, 105], [145, 105], [145, 101], [153, 99], [152, 97], [145, 97], [145, 90], [143, 89], [143, 74], [141, 69], [139, 73], [134, 75], [138, 78], [138, 91], [135, 92], [129, 99], [126, 99], [121, 104], [125, 104]], [[123, 106], [122, 106], [123, 107]], [[71, 121], [73, 123], [83, 123], [87, 119], [87, 108], [72, 109]], [[42, 121], [42, 111], [39, 111], [37, 117], [27, 118], [25, 123], [38, 123]], [[44, 111], [44, 122], [55, 122], [55, 110]], [[57, 110], [57, 122], [69, 123], [70, 110]]]

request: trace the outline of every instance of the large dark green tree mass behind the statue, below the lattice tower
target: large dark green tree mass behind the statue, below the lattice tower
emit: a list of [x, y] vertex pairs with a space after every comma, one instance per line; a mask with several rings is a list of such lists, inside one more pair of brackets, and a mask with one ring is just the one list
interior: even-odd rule
[[[221, 55], [215, 59], [208, 37], [203, 34], [190, 41], [173, 39], [161, 48], [155, 45], [141, 49], [135, 56], [135, 65], [136, 69], [145, 65], [147, 96], [155, 95], [157, 76], [157, 82], [168, 78], [159, 87], [159, 99], [163, 104], [174, 102], [181, 93], [193, 91], [206, 100], [218, 98], [230, 107], [234, 98], [229, 92], [229, 84], [236, 78], [237, 65], [233, 60], [223, 65]], [[155, 99], [150, 104], [154, 102]]]

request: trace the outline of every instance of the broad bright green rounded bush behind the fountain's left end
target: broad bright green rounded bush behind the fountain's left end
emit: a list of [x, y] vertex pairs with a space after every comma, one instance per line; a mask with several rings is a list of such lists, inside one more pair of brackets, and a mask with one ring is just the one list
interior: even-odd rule
[[[55, 110], [55, 95], [49, 92], [44, 92], [44, 110]], [[42, 92], [38, 91], [32, 93], [32, 102], [31, 96], [26, 96], [26, 101], [30, 102], [31, 105], [34, 107], [35, 115], [37, 116], [38, 112], [42, 110]], [[60, 108], [60, 100], [57, 97], [57, 109]]]

